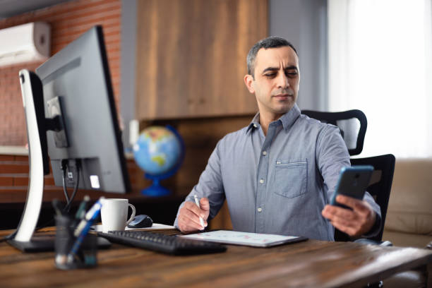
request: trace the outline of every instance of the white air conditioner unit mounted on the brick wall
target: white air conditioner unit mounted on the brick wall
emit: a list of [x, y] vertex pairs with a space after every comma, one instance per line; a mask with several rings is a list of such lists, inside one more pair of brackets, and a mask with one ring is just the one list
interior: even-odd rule
[[49, 24], [33, 22], [2, 29], [0, 43], [0, 66], [44, 61], [51, 46]]

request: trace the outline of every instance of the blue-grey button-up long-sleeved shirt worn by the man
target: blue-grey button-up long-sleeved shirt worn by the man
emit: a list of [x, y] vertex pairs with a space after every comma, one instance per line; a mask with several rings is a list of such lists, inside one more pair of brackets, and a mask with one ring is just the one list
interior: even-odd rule
[[[212, 219], [227, 199], [236, 231], [332, 241], [334, 227], [321, 210], [330, 202], [340, 169], [349, 165], [339, 128], [310, 119], [295, 104], [270, 123], [267, 136], [259, 114], [249, 126], [224, 136], [186, 201], [193, 202], [194, 194], [207, 197]], [[364, 199], [378, 219], [379, 206], [369, 193]]]

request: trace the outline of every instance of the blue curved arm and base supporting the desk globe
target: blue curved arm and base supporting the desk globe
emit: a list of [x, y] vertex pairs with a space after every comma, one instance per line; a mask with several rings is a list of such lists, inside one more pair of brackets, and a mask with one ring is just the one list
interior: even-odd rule
[[150, 197], [161, 197], [161, 196], [168, 196], [171, 191], [169, 191], [169, 189], [165, 188], [164, 186], [160, 185], [160, 181], [163, 179], [167, 179], [171, 176], [173, 176], [174, 174], [176, 174], [177, 170], [179, 170], [179, 168], [181, 167], [181, 164], [183, 163], [184, 160], [184, 141], [183, 138], [181, 138], [179, 132], [176, 131], [176, 129], [174, 129], [174, 127], [167, 125], [165, 126], [167, 129], [169, 129], [170, 131], [172, 131], [172, 133], [174, 133], [174, 135], [176, 136], [176, 138], [179, 140], [180, 143], [180, 157], [179, 157], [179, 161], [177, 162], [177, 164], [168, 172], [165, 172], [164, 174], [160, 174], [160, 175], [153, 175], [153, 174], [148, 174], [145, 173], [144, 177], [145, 179], [150, 179], [152, 180], [152, 185], [148, 188], [144, 188], [141, 190], [141, 194], [145, 195], [145, 196], [150, 196]]

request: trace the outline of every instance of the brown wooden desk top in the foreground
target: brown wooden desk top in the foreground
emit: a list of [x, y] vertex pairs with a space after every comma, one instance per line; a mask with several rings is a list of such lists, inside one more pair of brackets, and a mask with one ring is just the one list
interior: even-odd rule
[[[8, 232], [0, 232], [4, 236]], [[420, 269], [431, 287], [432, 251], [308, 240], [273, 248], [167, 256], [113, 245], [87, 270], [57, 270], [54, 252], [21, 253], [0, 244], [0, 287], [362, 287]]]

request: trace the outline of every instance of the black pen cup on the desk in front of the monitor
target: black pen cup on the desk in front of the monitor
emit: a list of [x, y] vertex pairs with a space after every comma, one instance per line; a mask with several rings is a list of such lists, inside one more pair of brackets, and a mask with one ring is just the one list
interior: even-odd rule
[[56, 215], [56, 241], [55, 258], [56, 268], [71, 270], [77, 268], [90, 268], [97, 265], [97, 236], [87, 234], [76, 253], [73, 246], [77, 243], [75, 231], [75, 220], [65, 215]]

